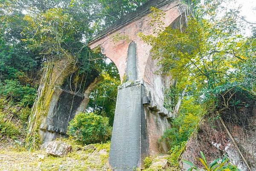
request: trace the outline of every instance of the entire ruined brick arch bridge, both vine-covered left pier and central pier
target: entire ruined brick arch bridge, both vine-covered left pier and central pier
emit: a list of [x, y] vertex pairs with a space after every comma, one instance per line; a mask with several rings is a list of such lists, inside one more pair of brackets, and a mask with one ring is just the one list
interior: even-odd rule
[[[157, 61], [151, 58], [151, 46], [138, 37], [139, 32], [148, 35], [156, 29], [156, 26], [148, 25], [151, 6], [166, 13], [163, 18], [165, 27], [179, 28], [184, 21], [180, 15], [184, 8], [178, 0], [150, 0], [89, 43], [91, 49], [101, 52], [116, 64], [122, 82], [118, 88], [109, 154], [109, 164], [114, 171], [143, 168], [145, 157], [168, 151], [167, 145], [158, 143], [158, 139], [169, 128], [168, 119], [172, 117], [172, 113], [163, 107], [164, 89], [169, 88], [171, 78], [154, 74], [158, 68]], [[39, 128], [41, 143], [65, 136], [68, 122], [76, 113], [86, 109], [90, 92], [99, 81], [97, 71], [86, 76], [88, 79], [84, 79], [84, 75], [77, 77], [79, 73], [68, 75], [66, 70], [70, 70], [70, 65], [69, 60], [63, 59], [52, 65], [52, 72], [44, 72], [44, 75], [51, 73], [53, 85], [49, 88], [45, 85], [46, 80], [41, 81], [28, 131], [28, 135], [33, 135], [33, 130]], [[73, 91], [76, 86], [72, 80], [76, 78], [84, 85], [79, 92]], [[70, 90], [70, 87], [74, 88]], [[46, 98], [40, 101], [44, 94]], [[44, 114], [41, 104], [49, 104]]]

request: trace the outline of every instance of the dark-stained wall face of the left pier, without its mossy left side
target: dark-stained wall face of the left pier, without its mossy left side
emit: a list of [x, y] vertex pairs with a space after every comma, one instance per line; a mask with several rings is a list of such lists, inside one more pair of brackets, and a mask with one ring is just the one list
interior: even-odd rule
[[[73, 77], [75, 75], [73, 73]], [[39, 128], [42, 143], [67, 136], [69, 121], [77, 113], [85, 111], [89, 102], [90, 92], [99, 81], [98, 76], [98, 72], [88, 75], [87, 80], [82, 79], [81, 76], [80, 80], [76, 83], [73, 78], [67, 77], [61, 86], [54, 85], [47, 116], [41, 120]]]

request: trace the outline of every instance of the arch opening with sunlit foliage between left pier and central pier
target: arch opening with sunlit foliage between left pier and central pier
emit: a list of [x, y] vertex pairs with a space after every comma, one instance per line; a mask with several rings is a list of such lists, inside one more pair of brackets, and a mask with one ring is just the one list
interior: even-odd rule
[[116, 64], [110, 58], [105, 57], [98, 63], [101, 63], [99, 64], [100, 80], [89, 95], [90, 101], [85, 112], [106, 116], [109, 118], [109, 125], [113, 126], [120, 75]]

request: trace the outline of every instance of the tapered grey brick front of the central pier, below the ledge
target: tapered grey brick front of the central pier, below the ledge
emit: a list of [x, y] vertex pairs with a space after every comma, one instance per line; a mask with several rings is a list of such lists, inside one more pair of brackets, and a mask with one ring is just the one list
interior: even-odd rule
[[143, 81], [128, 81], [119, 87], [109, 154], [114, 171], [142, 168], [148, 156], [143, 96]]

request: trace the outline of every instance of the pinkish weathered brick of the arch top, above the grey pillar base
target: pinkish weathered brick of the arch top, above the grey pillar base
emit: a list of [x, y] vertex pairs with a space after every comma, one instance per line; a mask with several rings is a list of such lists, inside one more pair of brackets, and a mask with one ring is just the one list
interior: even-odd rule
[[[162, 18], [163, 22], [165, 23], [164, 27], [169, 26], [177, 17], [180, 16], [182, 9], [179, 8], [181, 6], [182, 5], [180, 5], [178, 0], [174, 0], [170, 1], [164, 6], [159, 7], [159, 9], [166, 13], [165, 18]], [[137, 20], [120, 27], [120, 29], [116, 30], [116, 32], [106, 33], [104, 38], [93, 41], [89, 45], [91, 49], [100, 47], [102, 54], [106, 55], [116, 64], [121, 81], [126, 72], [128, 46], [132, 41], [137, 44], [137, 79], [143, 79], [144, 77], [146, 63], [148, 57], [150, 56], [151, 46], [142, 41], [138, 36], [138, 33], [142, 32], [145, 35], [152, 34], [153, 30], [156, 29], [157, 24], [152, 27], [149, 26], [150, 22], [151, 18], [145, 14], [144, 16], [137, 18]], [[128, 39], [125, 38], [116, 42], [113, 40], [113, 37], [116, 35], [125, 36]]]

